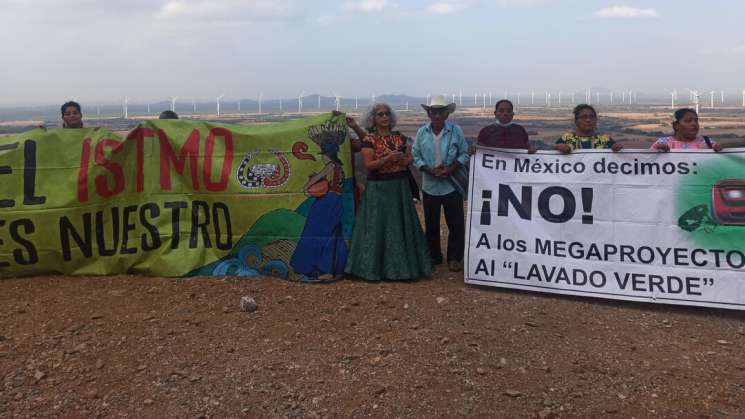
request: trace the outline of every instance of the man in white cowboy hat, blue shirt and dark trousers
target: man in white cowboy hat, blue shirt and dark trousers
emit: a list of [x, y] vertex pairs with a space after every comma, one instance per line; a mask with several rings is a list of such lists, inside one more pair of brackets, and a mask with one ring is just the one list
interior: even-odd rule
[[453, 272], [463, 270], [465, 246], [465, 220], [463, 197], [448, 178], [468, 161], [468, 144], [463, 130], [447, 122], [455, 111], [455, 103], [448, 104], [445, 97], [433, 96], [429, 106], [423, 104], [430, 123], [416, 133], [412, 147], [414, 165], [422, 172], [422, 203], [424, 228], [432, 263], [442, 263], [440, 250], [440, 207], [445, 212], [448, 226], [448, 268]]

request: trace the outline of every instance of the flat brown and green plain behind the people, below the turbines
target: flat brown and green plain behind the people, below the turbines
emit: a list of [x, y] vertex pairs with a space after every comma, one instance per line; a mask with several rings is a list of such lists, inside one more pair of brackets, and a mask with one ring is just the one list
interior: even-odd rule
[[[395, 106], [394, 106], [395, 108]], [[419, 126], [427, 122], [426, 115], [419, 107], [413, 105], [409, 110], [397, 109], [399, 115], [398, 129], [413, 136]], [[359, 116], [360, 109], [342, 109], [352, 116]], [[672, 133], [672, 110], [665, 106], [635, 106], [612, 108], [598, 107], [600, 116], [598, 129], [611, 135], [626, 147], [647, 148], [654, 139]], [[280, 122], [295, 119], [314, 112], [298, 113], [223, 113], [215, 114], [182, 114], [183, 119], [209, 120], [225, 123], [253, 124]], [[48, 118], [48, 119], [47, 119]], [[0, 135], [3, 133], [22, 132], [43, 125], [49, 128], [60, 126], [60, 121], [47, 118], [2, 120], [0, 118]], [[157, 114], [134, 116], [129, 119], [120, 117], [86, 116], [86, 126], [100, 126], [117, 132], [126, 132], [137, 126], [143, 119], [157, 118]], [[493, 122], [493, 111], [480, 107], [463, 107], [451, 116], [451, 121], [461, 125], [466, 137], [475, 140], [479, 129]], [[564, 132], [572, 129], [571, 107], [522, 107], [516, 110], [515, 121], [529, 131], [531, 140], [539, 146], [549, 148]], [[708, 135], [730, 147], [745, 146], [745, 108], [730, 107], [714, 110], [703, 109], [700, 115], [702, 134]]]

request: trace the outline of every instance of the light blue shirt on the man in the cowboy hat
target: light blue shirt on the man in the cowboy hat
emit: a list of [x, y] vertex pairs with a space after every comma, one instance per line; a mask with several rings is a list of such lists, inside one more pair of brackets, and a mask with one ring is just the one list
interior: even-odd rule
[[[440, 156], [442, 165], [449, 166], [456, 160], [461, 165], [468, 161], [468, 143], [463, 130], [456, 124], [445, 121], [445, 126], [440, 132]], [[416, 132], [414, 145], [411, 147], [414, 157], [414, 166], [421, 171], [422, 166], [430, 169], [435, 167], [435, 136], [432, 133], [432, 124], [424, 125]], [[447, 179], [437, 178], [429, 173], [422, 172], [422, 190], [430, 195], [447, 195], [453, 188]]]

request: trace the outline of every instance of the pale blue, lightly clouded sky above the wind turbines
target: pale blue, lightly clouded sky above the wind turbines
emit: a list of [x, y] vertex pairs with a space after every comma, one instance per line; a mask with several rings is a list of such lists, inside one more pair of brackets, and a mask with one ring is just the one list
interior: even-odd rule
[[0, 105], [587, 87], [739, 96], [743, 25], [740, 0], [0, 0]]

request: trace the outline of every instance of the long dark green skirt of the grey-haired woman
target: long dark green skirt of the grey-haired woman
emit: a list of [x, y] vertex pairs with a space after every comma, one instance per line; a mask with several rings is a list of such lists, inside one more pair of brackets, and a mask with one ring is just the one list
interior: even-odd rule
[[367, 182], [344, 271], [371, 281], [432, 274], [407, 178]]

